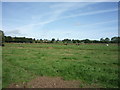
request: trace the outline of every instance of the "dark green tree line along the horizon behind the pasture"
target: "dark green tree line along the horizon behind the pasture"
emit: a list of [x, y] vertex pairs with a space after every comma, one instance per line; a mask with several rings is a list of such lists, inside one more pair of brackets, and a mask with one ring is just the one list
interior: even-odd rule
[[26, 37], [11, 37], [11, 36], [4, 36], [3, 31], [0, 30], [0, 38], [1, 43], [119, 43], [120, 37], [112, 37], [110, 38], [100, 38], [100, 40], [75, 40], [75, 39], [64, 39], [64, 40], [55, 40], [52, 38], [51, 40], [48, 39], [33, 39], [33, 38], [26, 38]]

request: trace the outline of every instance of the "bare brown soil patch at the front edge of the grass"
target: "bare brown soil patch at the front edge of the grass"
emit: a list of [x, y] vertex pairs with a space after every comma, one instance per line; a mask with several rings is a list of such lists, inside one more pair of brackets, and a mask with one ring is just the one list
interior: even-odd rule
[[65, 81], [60, 77], [38, 77], [30, 82], [14, 83], [8, 88], [80, 88], [80, 81]]

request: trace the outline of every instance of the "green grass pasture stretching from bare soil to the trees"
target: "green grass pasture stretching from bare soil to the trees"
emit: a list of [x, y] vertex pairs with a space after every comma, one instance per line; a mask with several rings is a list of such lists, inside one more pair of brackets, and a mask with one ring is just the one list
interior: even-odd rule
[[3, 87], [38, 76], [79, 80], [80, 87], [118, 87], [118, 46], [5, 44]]

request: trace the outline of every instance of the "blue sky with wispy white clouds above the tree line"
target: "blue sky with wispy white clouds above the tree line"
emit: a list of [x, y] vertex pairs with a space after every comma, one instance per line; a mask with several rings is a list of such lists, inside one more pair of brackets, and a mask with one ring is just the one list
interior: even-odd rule
[[3, 2], [5, 35], [36, 39], [118, 36], [117, 2]]

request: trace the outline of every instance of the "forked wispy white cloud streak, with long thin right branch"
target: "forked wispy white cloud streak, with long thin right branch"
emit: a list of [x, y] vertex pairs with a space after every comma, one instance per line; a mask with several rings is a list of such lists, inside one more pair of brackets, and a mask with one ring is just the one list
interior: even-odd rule
[[[69, 15], [69, 16], [63, 15], [67, 11], [74, 10], [77, 8], [79, 8], [79, 9], [85, 8], [88, 5], [92, 5], [92, 4], [95, 4], [95, 3], [60, 3], [60, 4], [51, 5], [50, 8], [53, 9], [52, 11], [42, 14], [40, 16], [37, 15], [37, 16], [32, 17], [32, 20], [36, 21], [36, 23], [34, 23], [34, 24], [30, 23], [30, 24], [27, 24], [22, 27], [17, 27], [16, 29], [25, 30], [26, 28], [28, 28], [29, 30], [32, 30], [32, 28], [34, 28], [36, 26], [43, 27], [46, 24], [49, 24], [49, 23], [52, 23], [52, 22], [55, 22], [55, 21], [61, 20], [61, 19], [117, 11], [117, 9], [112, 9], [112, 10], [110, 9], [110, 10], [100, 10], [100, 11], [93, 11], [93, 12], [78, 13], [78, 14], [73, 14], [73, 15]], [[46, 18], [46, 19], [37, 21], [40, 18]]]

